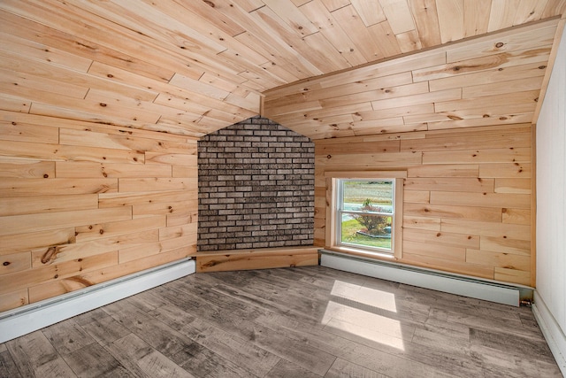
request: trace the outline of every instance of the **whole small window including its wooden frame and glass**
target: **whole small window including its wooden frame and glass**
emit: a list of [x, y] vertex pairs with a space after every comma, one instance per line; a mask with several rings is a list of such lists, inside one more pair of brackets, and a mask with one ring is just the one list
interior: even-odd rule
[[328, 173], [326, 241], [340, 251], [401, 257], [405, 172]]

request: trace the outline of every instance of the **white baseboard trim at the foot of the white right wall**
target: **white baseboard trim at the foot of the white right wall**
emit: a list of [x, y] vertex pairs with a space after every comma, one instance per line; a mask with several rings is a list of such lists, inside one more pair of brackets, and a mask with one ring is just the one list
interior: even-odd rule
[[532, 313], [539, 323], [540, 331], [547, 340], [548, 347], [555, 356], [556, 364], [560, 367], [562, 375], [566, 377], [566, 336], [558, 325], [552, 312], [548, 309], [545, 301], [539, 296], [537, 290], [534, 292]]

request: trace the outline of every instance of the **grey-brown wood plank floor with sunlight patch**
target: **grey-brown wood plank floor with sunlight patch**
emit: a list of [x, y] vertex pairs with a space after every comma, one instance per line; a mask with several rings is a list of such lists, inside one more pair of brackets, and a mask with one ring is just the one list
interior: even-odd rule
[[0, 344], [2, 377], [561, 377], [531, 309], [322, 266], [192, 274]]

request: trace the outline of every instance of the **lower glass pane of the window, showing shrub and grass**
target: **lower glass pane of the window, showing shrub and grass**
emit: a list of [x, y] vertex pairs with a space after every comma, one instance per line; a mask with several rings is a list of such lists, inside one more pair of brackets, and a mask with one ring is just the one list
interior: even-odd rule
[[342, 214], [341, 243], [391, 250], [392, 217]]

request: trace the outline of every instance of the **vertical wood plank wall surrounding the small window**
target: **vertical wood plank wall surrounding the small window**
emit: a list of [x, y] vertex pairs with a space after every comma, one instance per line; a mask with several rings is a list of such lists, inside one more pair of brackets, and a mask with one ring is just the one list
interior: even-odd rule
[[530, 124], [315, 141], [315, 243], [325, 172], [407, 170], [402, 263], [532, 285]]

